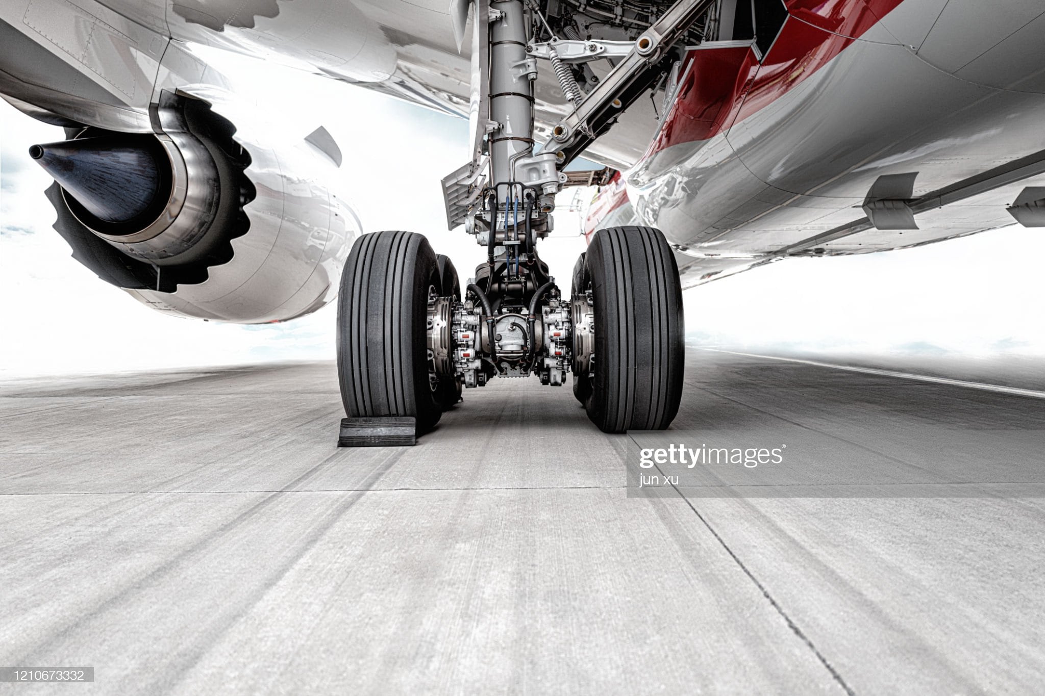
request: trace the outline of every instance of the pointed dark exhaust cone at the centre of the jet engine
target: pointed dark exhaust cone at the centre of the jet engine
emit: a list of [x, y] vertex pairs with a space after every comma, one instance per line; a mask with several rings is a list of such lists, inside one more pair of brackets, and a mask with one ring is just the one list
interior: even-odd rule
[[152, 136], [33, 145], [29, 155], [92, 216], [125, 230], [154, 220], [170, 193], [170, 163]]

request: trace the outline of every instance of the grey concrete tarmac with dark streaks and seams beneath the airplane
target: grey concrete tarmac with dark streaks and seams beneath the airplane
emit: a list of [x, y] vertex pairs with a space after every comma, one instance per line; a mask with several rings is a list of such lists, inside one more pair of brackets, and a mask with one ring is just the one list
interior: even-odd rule
[[[679, 429], [1045, 467], [1045, 400], [696, 350], [687, 382]], [[329, 363], [0, 385], [0, 665], [95, 668], [0, 691], [1045, 683], [1041, 498], [627, 498], [627, 436], [536, 380], [414, 448], [338, 450], [341, 415]]]

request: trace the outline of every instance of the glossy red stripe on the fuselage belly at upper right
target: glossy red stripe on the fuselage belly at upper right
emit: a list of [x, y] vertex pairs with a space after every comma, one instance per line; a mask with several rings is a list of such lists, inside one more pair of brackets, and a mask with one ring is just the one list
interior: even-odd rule
[[903, 0], [787, 0], [788, 18], [762, 63], [748, 47], [701, 48], [647, 159], [680, 143], [710, 140], [756, 114], [830, 63]]

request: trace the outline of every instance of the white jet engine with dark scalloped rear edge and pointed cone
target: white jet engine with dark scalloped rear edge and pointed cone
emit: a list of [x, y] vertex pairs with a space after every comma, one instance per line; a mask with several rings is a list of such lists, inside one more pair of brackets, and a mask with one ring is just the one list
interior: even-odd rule
[[361, 225], [329, 188], [341, 153], [325, 129], [273, 139], [169, 92], [153, 121], [155, 135], [87, 128], [30, 148], [76, 260], [182, 316], [280, 321], [335, 296]]

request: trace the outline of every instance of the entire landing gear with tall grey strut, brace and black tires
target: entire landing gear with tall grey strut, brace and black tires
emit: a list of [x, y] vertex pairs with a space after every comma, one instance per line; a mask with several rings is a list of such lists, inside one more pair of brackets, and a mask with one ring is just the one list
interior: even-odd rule
[[[561, 386], [572, 374], [577, 400], [608, 433], [671, 424], [682, 390], [682, 292], [664, 235], [644, 226], [597, 232], [574, 268], [568, 298], [536, 247], [552, 231], [555, 194], [572, 181], [566, 164], [677, 72], [686, 32], [711, 5], [677, 0], [634, 29], [629, 45], [578, 40], [577, 17], [559, 5], [558, 16], [544, 16], [553, 3], [477, 0], [480, 118], [471, 161], [443, 189], [450, 229], [463, 224], [487, 259], [464, 285], [420, 235], [378, 232], [355, 243], [338, 307], [349, 415], [343, 441], [389, 441], [390, 432], [403, 436], [403, 424], [423, 433], [461, 401], [462, 388], [495, 377], [535, 375]], [[631, 21], [643, 26], [637, 15]], [[582, 64], [599, 56], [612, 57], [614, 68], [582, 89], [578, 76], [590, 72]], [[538, 58], [551, 62], [572, 111], [535, 152]]]

